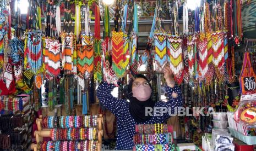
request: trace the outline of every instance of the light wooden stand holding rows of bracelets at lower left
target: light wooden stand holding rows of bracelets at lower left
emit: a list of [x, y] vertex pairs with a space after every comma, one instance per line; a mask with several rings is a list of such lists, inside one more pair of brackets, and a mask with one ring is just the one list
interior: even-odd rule
[[[36, 142], [42, 142], [43, 137], [50, 137], [51, 135], [51, 129], [42, 129], [42, 116], [38, 119], [36, 119], [36, 124], [37, 124], [37, 130], [35, 131], [34, 135], [36, 137]], [[103, 123], [103, 118], [102, 114], [99, 115], [97, 118], [97, 125], [98, 125], [98, 140], [97, 140], [97, 150], [101, 150], [101, 144], [102, 144], [102, 136], [103, 136], [103, 130], [102, 130], [102, 123]], [[34, 151], [37, 151], [37, 144], [31, 144], [31, 149]], [[78, 149], [80, 149], [80, 143], [78, 143]]]

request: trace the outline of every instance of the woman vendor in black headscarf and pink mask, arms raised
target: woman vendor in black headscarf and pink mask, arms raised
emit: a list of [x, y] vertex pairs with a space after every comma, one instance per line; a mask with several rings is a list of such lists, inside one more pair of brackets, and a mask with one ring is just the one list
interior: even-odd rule
[[146, 107], [171, 107], [171, 109], [175, 109], [175, 107], [182, 106], [181, 89], [175, 84], [170, 67], [164, 68], [164, 78], [166, 80], [167, 102], [152, 101], [152, 88], [149, 80], [143, 74], [138, 74], [129, 81], [128, 89], [125, 92], [127, 100], [111, 95], [115, 85], [107, 84], [106, 82], [102, 82], [99, 85], [97, 97], [100, 103], [111, 113], [115, 114], [117, 118], [116, 149], [133, 149], [135, 124], [164, 123], [170, 118], [168, 112], [162, 114], [162, 116], [146, 115]]

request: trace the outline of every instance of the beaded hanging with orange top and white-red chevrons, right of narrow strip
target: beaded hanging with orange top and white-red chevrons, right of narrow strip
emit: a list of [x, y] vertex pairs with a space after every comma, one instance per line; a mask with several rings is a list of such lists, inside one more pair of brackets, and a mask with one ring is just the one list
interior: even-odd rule
[[199, 54], [199, 74], [200, 81], [204, 80], [205, 74], [208, 72], [208, 40], [203, 34], [199, 34], [197, 38], [197, 49]]

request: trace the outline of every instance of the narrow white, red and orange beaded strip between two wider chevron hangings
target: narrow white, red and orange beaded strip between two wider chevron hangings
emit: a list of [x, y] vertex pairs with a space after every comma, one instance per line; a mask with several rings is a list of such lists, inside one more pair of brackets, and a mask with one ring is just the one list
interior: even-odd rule
[[189, 78], [193, 78], [193, 72], [194, 72], [194, 36], [189, 35], [188, 36], [188, 73], [189, 73]]

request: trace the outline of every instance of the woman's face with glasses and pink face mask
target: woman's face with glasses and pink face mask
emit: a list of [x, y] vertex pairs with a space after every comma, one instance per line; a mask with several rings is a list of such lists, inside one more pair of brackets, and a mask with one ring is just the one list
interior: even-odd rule
[[136, 97], [139, 101], [146, 101], [151, 96], [151, 88], [148, 82], [133, 82], [133, 97]]

